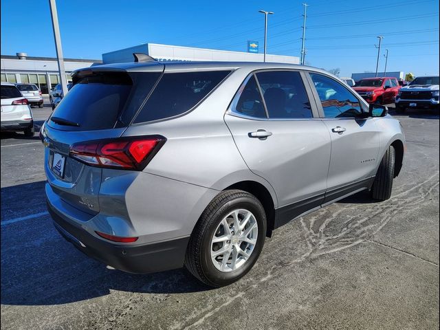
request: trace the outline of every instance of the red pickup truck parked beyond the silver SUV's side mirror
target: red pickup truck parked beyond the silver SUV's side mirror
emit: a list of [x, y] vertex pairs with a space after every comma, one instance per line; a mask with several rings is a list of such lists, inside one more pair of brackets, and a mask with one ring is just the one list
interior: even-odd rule
[[353, 89], [357, 91], [366, 102], [388, 104], [394, 103], [400, 87], [397, 78], [377, 77], [364, 78], [356, 83]]

